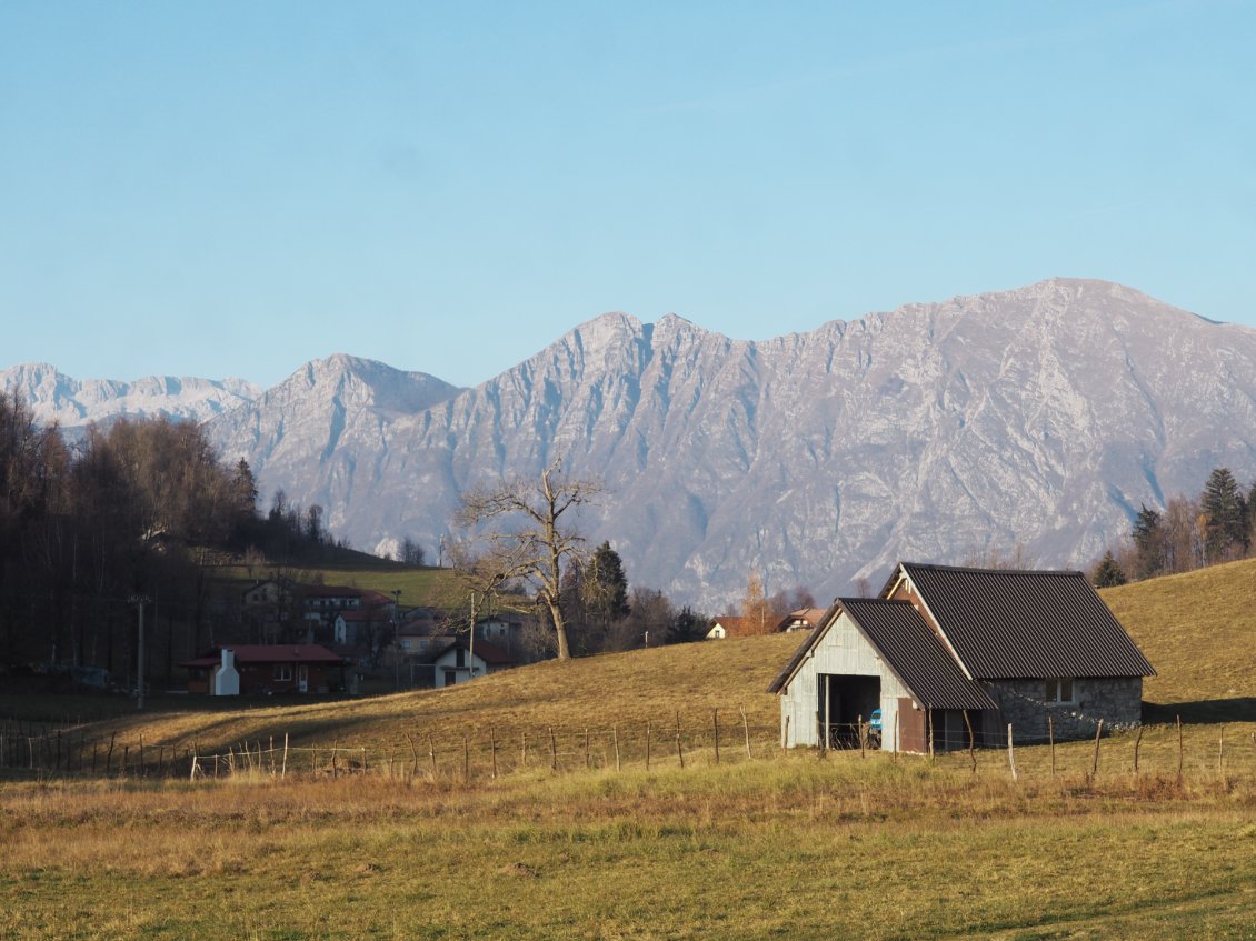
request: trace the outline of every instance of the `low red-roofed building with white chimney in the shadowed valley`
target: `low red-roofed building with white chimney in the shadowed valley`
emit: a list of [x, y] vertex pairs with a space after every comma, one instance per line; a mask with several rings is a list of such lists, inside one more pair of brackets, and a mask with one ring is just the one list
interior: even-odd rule
[[344, 657], [317, 644], [247, 644], [187, 660], [187, 691], [210, 696], [335, 693]]

